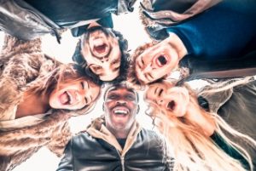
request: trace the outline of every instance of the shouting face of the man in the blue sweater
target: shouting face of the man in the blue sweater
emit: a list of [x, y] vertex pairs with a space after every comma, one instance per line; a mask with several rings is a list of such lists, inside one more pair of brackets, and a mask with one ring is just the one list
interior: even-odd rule
[[151, 83], [170, 74], [177, 67], [176, 48], [166, 40], [146, 49], [135, 60], [135, 71], [143, 83]]

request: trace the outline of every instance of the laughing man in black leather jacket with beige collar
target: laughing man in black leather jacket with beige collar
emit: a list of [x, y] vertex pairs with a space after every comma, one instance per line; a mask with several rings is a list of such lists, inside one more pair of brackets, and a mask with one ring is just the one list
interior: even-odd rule
[[137, 92], [119, 83], [106, 90], [104, 100], [104, 116], [70, 140], [57, 171], [171, 170], [166, 142], [136, 121]]

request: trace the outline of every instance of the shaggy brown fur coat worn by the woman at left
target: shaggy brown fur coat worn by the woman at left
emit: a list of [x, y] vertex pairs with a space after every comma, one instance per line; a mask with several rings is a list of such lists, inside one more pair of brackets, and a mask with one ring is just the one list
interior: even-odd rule
[[71, 138], [67, 123], [72, 112], [48, 111], [15, 119], [27, 88], [55, 68], [41, 51], [41, 40], [5, 37], [0, 55], [0, 170], [11, 170], [47, 146], [58, 157]]

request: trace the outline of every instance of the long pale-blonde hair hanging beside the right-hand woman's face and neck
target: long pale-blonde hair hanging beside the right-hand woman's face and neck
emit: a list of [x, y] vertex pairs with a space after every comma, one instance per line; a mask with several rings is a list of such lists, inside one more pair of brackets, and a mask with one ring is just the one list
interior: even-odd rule
[[[249, 156], [240, 145], [230, 140], [225, 134], [232, 134], [241, 140], [246, 140], [247, 143], [255, 146], [255, 141], [245, 134], [241, 134], [229, 124], [219, 117], [216, 113], [205, 111], [198, 105], [197, 95], [189, 89], [189, 103], [199, 108], [201, 114], [213, 119], [216, 124], [215, 132], [224, 140], [227, 145], [236, 149], [237, 152], [244, 157], [250, 169], [253, 171], [252, 158]], [[146, 97], [145, 97], [146, 99]], [[246, 170], [241, 165], [241, 162], [233, 157], [230, 157], [226, 152], [221, 150], [207, 134], [204, 134], [203, 129], [196, 123], [189, 122], [185, 117], [175, 117], [172, 112], [161, 109], [160, 106], [153, 101], [148, 101], [148, 115], [154, 117], [156, 126], [160, 132], [165, 135], [166, 140], [172, 145], [174, 151], [174, 170], [196, 170], [196, 171], [241, 171]]]

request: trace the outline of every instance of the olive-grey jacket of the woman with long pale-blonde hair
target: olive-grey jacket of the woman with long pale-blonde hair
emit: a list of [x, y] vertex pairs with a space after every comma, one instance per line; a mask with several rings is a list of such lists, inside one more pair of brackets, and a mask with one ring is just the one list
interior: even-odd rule
[[[226, 84], [223, 85], [224, 87]], [[199, 94], [206, 90], [216, 88], [214, 84], [202, 88]], [[214, 89], [213, 89], [214, 90]], [[201, 104], [211, 112], [218, 113], [232, 128], [247, 134], [256, 140], [255, 134], [255, 106], [256, 106], [256, 81], [241, 84], [233, 88], [228, 88], [218, 93], [201, 94]], [[231, 140], [247, 149], [252, 159], [256, 158], [256, 149], [247, 145], [242, 140], [228, 134]], [[253, 166], [256, 162], [253, 160]]]

